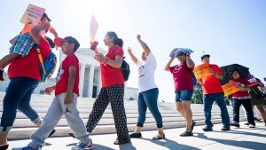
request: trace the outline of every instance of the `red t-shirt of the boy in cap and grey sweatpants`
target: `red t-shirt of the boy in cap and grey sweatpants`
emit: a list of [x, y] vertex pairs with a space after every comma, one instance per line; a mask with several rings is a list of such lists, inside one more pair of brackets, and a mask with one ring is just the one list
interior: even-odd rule
[[74, 66], [76, 71], [73, 92], [79, 95], [79, 59], [74, 54], [70, 54], [66, 56], [66, 59], [62, 61], [62, 64], [59, 67], [59, 73], [56, 78], [55, 96], [67, 91], [69, 67], [71, 66]]

